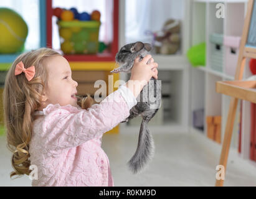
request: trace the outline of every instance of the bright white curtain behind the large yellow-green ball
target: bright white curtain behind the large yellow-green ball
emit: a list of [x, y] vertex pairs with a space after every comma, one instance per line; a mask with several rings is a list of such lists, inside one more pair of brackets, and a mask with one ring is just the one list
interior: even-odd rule
[[29, 27], [25, 49], [38, 49], [40, 47], [39, 0], [0, 0], [0, 7], [8, 7], [22, 16]]

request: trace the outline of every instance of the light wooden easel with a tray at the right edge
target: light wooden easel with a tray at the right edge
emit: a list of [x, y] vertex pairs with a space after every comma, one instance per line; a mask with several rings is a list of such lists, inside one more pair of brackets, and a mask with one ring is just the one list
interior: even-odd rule
[[[224, 95], [232, 96], [229, 105], [229, 114], [225, 126], [225, 136], [220, 155], [220, 165], [226, 170], [227, 157], [229, 155], [230, 140], [234, 127], [235, 112], [239, 99], [256, 103], [256, 81], [241, 81], [244, 74], [246, 58], [256, 58], [256, 1], [249, 0], [247, 16], [245, 17], [244, 30], [241, 38], [239, 58], [234, 81], [217, 81], [216, 91]], [[252, 34], [252, 30], [254, 35]], [[253, 42], [252, 42], [253, 41]], [[216, 186], [223, 186], [224, 180], [216, 180]]]

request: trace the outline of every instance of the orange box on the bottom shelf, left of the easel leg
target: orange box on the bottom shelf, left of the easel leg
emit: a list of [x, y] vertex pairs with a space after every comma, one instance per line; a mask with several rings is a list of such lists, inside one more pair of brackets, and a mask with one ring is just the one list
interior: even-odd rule
[[221, 143], [221, 116], [207, 116], [207, 137]]

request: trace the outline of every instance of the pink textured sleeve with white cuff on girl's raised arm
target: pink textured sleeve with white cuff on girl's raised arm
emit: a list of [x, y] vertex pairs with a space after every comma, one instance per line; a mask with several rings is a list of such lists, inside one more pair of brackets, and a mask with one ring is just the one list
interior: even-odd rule
[[130, 115], [137, 103], [126, 86], [111, 93], [100, 104], [88, 110], [70, 113], [62, 107], [50, 111], [39, 131], [40, 139], [49, 150], [67, 149], [102, 136]]

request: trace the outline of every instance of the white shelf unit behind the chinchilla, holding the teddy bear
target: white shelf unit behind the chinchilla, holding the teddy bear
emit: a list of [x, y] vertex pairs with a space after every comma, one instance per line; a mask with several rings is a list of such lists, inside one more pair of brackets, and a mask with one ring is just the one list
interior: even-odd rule
[[[129, 0], [126, 0], [129, 1]], [[134, 40], [131, 40], [126, 35], [126, 11], [136, 10], [136, 7], [126, 7], [125, 5], [128, 5], [126, 1], [120, 1], [120, 45], [119, 48], [121, 48], [123, 45], [127, 44], [128, 42], [136, 42], [138, 40], [141, 40], [141, 36], [138, 35], [138, 37], [134, 37]], [[158, 79], [162, 80], [162, 91], [163, 91], [163, 111], [158, 111], [157, 114], [163, 114], [160, 118], [163, 118], [163, 123], [155, 123], [155, 121], [152, 121], [152, 124], [149, 122], [149, 126], [152, 129], [152, 131], [158, 129], [165, 129], [168, 130], [168, 132], [187, 132], [188, 131], [188, 115], [187, 110], [189, 108], [189, 62], [186, 58], [186, 52], [187, 49], [189, 49], [189, 21], [186, 19], [189, 19], [190, 16], [190, 6], [191, 2], [186, 0], [181, 1], [158, 1], [159, 6], [163, 6], [163, 4], [167, 3], [169, 6], [169, 13], [170, 17], [178, 19], [180, 16], [175, 16], [174, 13], [179, 13], [181, 15], [181, 50], [174, 55], [155, 55], [153, 54], [153, 58], [155, 62], [158, 62], [159, 68], [158, 68]], [[133, 4], [129, 1], [128, 6], [133, 6]], [[149, 6], [150, 7], [150, 6]], [[153, 12], [153, 11], [152, 11]], [[146, 12], [145, 16], [143, 16], [143, 13], [140, 12], [140, 17], [143, 19], [151, 19], [150, 16], [156, 16], [153, 13]], [[166, 19], [159, 19], [157, 16], [154, 18], [153, 21], [151, 21], [153, 24], [155, 21], [158, 21], [158, 25], [161, 28], [161, 24], [164, 24]], [[154, 27], [155, 28], [155, 27]], [[154, 29], [149, 29], [149, 31], [153, 31]], [[143, 40], [143, 42], [151, 43], [151, 40]], [[123, 80], [127, 79], [126, 74], [121, 73], [120, 78]], [[169, 96], [169, 101], [168, 101]], [[155, 117], [158, 117], [157, 115]], [[130, 131], [133, 131], [133, 129], [137, 129], [140, 127], [140, 121], [141, 118], [136, 118], [138, 121], [132, 122], [132, 125], [130, 124], [122, 124], [124, 128], [130, 128]], [[133, 120], [136, 120], [133, 119]], [[137, 131], [136, 131], [137, 132]], [[164, 132], [164, 130], [163, 130]]]

